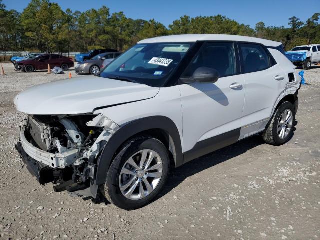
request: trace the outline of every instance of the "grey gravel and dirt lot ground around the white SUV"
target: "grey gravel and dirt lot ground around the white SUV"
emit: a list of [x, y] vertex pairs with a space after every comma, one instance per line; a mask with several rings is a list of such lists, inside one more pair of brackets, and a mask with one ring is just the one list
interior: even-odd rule
[[[320, 67], [305, 71], [294, 137], [282, 146], [260, 136], [172, 171], [150, 205], [125, 211], [112, 204], [51, 193], [14, 149], [24, 114], [17, 92], [68, 77], [0, 76], [0, 239], [318, 239], [320, 238]], [[71, 71], [73, 77], [76, 75]]]

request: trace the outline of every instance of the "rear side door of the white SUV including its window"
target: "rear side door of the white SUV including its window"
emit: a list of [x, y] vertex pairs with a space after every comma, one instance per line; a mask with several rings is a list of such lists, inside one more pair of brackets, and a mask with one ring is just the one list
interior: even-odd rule
[[288, 76], [263, 45], [239, 43], [239, 52], [245, 80], [241, 137], [246, 137], [264, 129]]

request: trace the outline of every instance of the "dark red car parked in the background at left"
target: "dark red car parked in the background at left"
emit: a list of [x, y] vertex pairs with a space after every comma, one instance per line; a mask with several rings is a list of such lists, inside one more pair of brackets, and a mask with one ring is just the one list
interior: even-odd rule
[[37, 57], [16, 62], [14, 64], [16, 71], [32, 72], [35, 70], [48, 69], [50, 64], [51, 69], [55, 66], [61, 67], [63, 71], [74, 66], [72, 58], [59, 54], [42, 54]]

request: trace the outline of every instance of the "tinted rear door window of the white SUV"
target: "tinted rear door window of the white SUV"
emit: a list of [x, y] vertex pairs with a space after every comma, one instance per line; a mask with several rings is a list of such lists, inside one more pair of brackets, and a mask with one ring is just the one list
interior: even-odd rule
[[263, 46], [240, 43], [244, 72], [261, 71], [271, 66], [270, 57]]

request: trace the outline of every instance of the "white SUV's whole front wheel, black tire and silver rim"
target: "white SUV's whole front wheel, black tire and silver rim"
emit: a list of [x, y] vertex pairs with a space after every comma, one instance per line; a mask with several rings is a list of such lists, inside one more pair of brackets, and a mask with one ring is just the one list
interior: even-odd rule
[[126, 142], [114, 158], [102, 194], [122, 209], [148, 204], [163, 188], [169, 173], [168, 150], [152, 137]]

